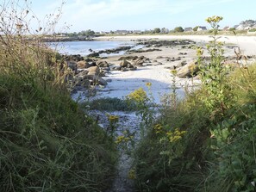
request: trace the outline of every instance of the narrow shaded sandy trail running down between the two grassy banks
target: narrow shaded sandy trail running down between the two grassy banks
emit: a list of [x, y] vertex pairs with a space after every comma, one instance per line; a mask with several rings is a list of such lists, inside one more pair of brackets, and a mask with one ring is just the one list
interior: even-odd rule
[[[134, 112], [122, 112], [122, 111], [90, 111], [90, 115], [98, 117], [98, 124], [106, 128], [109, 126], [109, 115], [116, 115], [119, 117], [119, 121], [116, 125], [116, 137], [122, 135], [123, 132], [129, 131], [134, 134], [134, 140], [139, 139], [140, 134], [140, 118], [135, 115]], [[127, 154], [122, 147], [119, 147], [119, 159], [116, 166], [116, 177], [112, 184], [111, 189], [105, 192], [134, 192], [134, 180], [128, 178], [130, 170], [133, 168], [133, 158]]]

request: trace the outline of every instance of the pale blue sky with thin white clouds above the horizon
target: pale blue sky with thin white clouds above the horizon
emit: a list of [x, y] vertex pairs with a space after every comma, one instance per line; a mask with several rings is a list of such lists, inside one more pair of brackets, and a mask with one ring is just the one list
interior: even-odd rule
[[[2, 4], [6, 1], [9, 0], [0, 0]], [[60, 8], [57, 32], [173, 29], [198, 25], [209, 28], [205, 19], [212, 15], [224, 17], [220, 23], [222, 28], [248, 19], [256, 20], [256, 0], [27, 0], [27, 3], [40, 25], [46, 25], [50, 14], [58, 15]]]

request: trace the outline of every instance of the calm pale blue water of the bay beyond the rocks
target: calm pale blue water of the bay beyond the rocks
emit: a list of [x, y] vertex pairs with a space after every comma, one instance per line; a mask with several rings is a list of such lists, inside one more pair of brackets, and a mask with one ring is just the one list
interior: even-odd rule
[[[63, 54], [80, 54], [86, 56], [91, 52], [89, 49], [92, 49], [95, 52], [113, 49], [118, 46], [134, 46], [134, 42], [127, 41], [102, 41], [102, 40], [93, 40], [93, 41], [66, 41], [51, 43], [50, 45], [53, 49], [56, 49], [59, 53]], [[119, 53], [119, 54], [123, 54]], [[104, 56], [104, 55], [101, 55]]]

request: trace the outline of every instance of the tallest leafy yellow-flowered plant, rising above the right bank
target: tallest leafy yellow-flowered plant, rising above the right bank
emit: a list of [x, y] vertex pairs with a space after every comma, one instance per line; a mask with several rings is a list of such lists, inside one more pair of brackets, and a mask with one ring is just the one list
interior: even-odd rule
[[227, 67], [223, 65], [224, 59], [224, 49], [223, 44], [218, 42], [217, 37], [218, 34], [218, 23], [222, 21], [221, 16], [212, 16], [206, 19], [207, 22], [213, 28], [214, 35], [212, 36], [211, 41], [209, 41], [209, 45], [207, 45], [207, 50], [210, 55], [209, 64], [203, 62], [203, 51], [201, 48], [197, 50], [197, 62], [200, 68], [200, 77], [203, 84], [203, 91], [205, 91], [206, 96], [201, 97], [200, 99], [206, 104], [207, 108], [212, 113], [224, 113], [226, 106], [226, 99], [224, 97], [224, 89], [221, 84], [223, 79], [226, 77], [228, 72]]

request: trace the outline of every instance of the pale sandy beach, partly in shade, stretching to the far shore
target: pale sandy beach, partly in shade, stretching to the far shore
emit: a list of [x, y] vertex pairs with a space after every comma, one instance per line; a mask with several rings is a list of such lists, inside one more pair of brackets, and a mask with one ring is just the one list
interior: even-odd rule
[[[103, 36], [96, 40], [193, 40], [196, 46], [205, 46], [211, 38], [208, 35], [138, 35], [138, 36]], [[225, 42], [225, 56], [235, 56], [234, 47], [239, 46], [244, 55], [256, 55], [256, 36], [222, 36], [219, 39]], [[147, 48], [143, 48], [146, 50]], [[147, 93], [152, 93], [155, 102], [159, 103], [162, 96], [172, 92], [172, 73], [171, 70], [180, 67], [181, 64], [190, 64], [196, 61], [197, 51], [195, 48], [184, 48], [182, 46], [161, 46], [160, 51], [147, 53], [131, 53], [129, 56], [144, 56], [147, 62], [142, 66], [137, 66], [135, 71], [110, 71], [103, 77], [109, 83], [97, 90], [97, 97], [118, 97], [123, 98], [132, 91], [142, 87]], [[204, 50], [207, 56], [207, 50]], [[112, 67], [120, 65], [121, 56], [111, 56], [106, 60]], [[178, 59], [179, 58], [179, 59]], [[255, 58], [255, 57], [254, 57]], [[170, 61], [171, 59], [171, 61]], [[174, 59], [174, 60], [173, 60]], [[253, 59], [255, 60], [255, 59]], [[251, 59], [252, 61], [252, 59]], [[175, 78], [177, 93], [179, 98], [185, 95], [184, 88], [197, 86], [200, 81], [192, 78]], [[151, 83], [151, 89], [148, 90], [146, 84]], [[80, 94], [80, 93], [78, 93]]]

